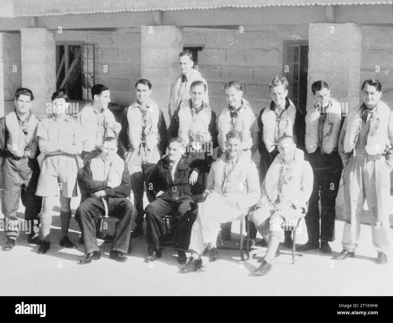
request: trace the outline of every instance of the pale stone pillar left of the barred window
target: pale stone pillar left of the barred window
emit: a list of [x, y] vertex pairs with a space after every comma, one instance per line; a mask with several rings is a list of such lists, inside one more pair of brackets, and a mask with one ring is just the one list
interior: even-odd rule
[[55, 33], [45, 28], [22, 28], [22, 86], [33, 91], [32, 111], [43, 116], [56, 91]]

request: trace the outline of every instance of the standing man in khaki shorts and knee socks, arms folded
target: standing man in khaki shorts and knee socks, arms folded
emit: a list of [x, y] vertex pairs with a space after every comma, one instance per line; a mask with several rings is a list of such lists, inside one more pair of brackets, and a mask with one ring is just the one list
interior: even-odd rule
[[42, 196], [40, 234], [42, 238], [38, 253], [46, 253], [50, 247], [49, 232], [52, 210], [56, 196], [60, 194], [60, 245], [75, 248], [68, 238], [71, 220], [71, 198], [77, 196], [76, 179], [78, 173], [76, 155], [82, 152], [82, 127], [72, 117], [64, 113], [67, 96], [62, 91], [53, 93], [53, 114], [42, 119], [37, 126], [37, 140], [44, 154], [36, 195]]

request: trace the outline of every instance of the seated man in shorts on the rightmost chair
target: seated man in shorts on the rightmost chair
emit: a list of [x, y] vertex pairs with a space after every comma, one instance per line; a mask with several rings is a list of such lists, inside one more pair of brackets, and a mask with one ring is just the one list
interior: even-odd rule
[[304, 152], [296, 148], [293, 137], [284, 135], [279, 138], [278, 151], [262, 183], [261, 200], [250, 219], [263, 239], [268, 241], [262, 265], [255, 269], [258, 275], [266, 275], [272, 270], [275, 252], [284, 238], [281, 225], [283, 221], [296, 225], [306, 212], [314, 180], [312, 168], [304, 160]]

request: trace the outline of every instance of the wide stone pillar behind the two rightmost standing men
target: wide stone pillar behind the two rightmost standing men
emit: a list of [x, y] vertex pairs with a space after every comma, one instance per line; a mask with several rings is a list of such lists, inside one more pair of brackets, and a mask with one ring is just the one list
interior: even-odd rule
[[[309, 67], [307, 79], [307, 109], [313, 105], [311, 85], [324, 80], [331, 96], [348, 103], [353, 109], [360, 103], [360, 58], [362, 31], [356, 24], [310, 24]], [[342, 185], [342, 180], [340, 186]], [[336, 199], [336, 213], [342, 218], [344, 200], [342, 188]], [[341, 237], [337, 237], [340, 239]]]

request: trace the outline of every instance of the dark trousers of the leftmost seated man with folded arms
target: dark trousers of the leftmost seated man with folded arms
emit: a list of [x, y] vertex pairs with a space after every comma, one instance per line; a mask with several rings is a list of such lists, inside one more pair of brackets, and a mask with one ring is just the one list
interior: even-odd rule
[[[136, 215], [136, 209], [127, 198], [108, 198], [108, 214], [118, 218], [111, 250], [127, 252], [130, 242], [131, 219]], [[104, 203], [101, 198], [86, 198], [76, 210], [75, 220], [78, 221], [84, 236], [85, 253], [99, 251], [97, 244], [97, 223], [105, 214]]]

